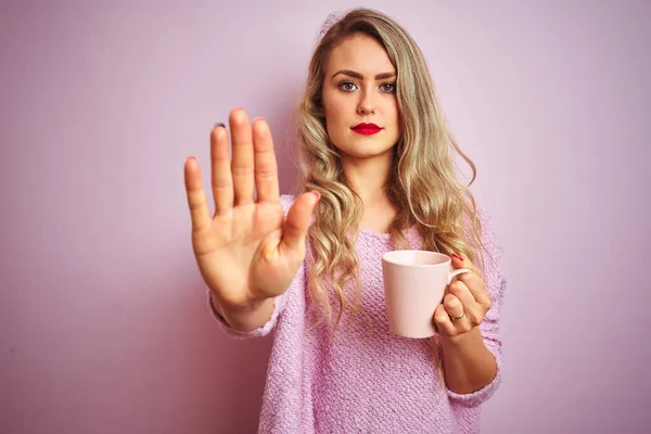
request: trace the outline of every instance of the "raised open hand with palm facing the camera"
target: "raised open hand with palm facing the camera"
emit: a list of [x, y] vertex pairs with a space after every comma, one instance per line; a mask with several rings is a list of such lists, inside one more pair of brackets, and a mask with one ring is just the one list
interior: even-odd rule
[[[285, 218], [269, 126], [250, 124], [243, 110], [229, 116], [228, 131], [210, 132], [210, 179], [215, 213], [209, 214], [199, 162], [186, 162], [186, 191], [192, 246], [200, 272], [226, 309], [246, 309], [288, 290], [305, 258], [305, 240], [318, 193], [304, 193]], [[257, 197], [254, 196], [254, 187]]]

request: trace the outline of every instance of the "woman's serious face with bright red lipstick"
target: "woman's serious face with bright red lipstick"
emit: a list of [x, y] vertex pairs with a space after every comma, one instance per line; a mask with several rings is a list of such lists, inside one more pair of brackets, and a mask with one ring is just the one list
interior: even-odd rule
[[331, 51], [321, 97], [342, 158], [391, 156], [401, 135], [395, 92], [396, 69], [375, 39], [358, 34]]

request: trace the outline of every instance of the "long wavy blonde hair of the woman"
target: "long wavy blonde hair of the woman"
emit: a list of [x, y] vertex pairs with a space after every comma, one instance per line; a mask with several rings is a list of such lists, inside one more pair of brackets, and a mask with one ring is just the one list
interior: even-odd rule
[[[378, 40], [396, 68], [396, 98], [403, 135], [396, 144], [387, 195], [396, 208], [390, 227], [394, 246], [407, 246], [405, 230], [414, 227], [424, 250], [457, 253], [477, 259], [480, 221], [469, 188], [457, 177], [454, 152], [476, 169], [461, 152], [438, 105], [423, 54], [409, 34], [388, 16], [369, 9], [355, 9], [327, 23], [309, 63], [307, 85], [297, 114], [301, 175], [298, 192], [317, 190], [321, 202], [310, 228], [308, 296], [316, 302], [320, 319], [336, 329], [346, 307], [360, 311], [361, 297], [356, 233], [361, 200], [348, 187], [340, 155], [330, 141], [322, 114], [321, 91], [328, 56], [333, 48], [357, 34]], [[471, 234], [468, 227], [470, 222]], [[353, 294], [345, 286], [352, 283]], [[329, 288], [339, 299], [333, 320]]]

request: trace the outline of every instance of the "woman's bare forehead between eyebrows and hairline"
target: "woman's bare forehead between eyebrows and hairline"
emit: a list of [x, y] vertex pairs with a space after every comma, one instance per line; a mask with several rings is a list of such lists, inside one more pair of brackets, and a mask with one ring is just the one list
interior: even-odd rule
[[339, 69], [352, 69], [363, 76], [395, 72], [384, 47], [362, 34], [346, 38], [331, 51], [327, 71]]

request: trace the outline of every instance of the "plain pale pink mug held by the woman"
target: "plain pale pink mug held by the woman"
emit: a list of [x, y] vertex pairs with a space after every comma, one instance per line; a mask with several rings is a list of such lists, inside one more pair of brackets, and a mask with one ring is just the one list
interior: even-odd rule
[[431, 337], [434, 310], [446, 288], [465, 268], [454, 269], [449, 256], [430, 251], [392, 251], [382, 256], [384, 299], [390, 330], [404, 337]]

